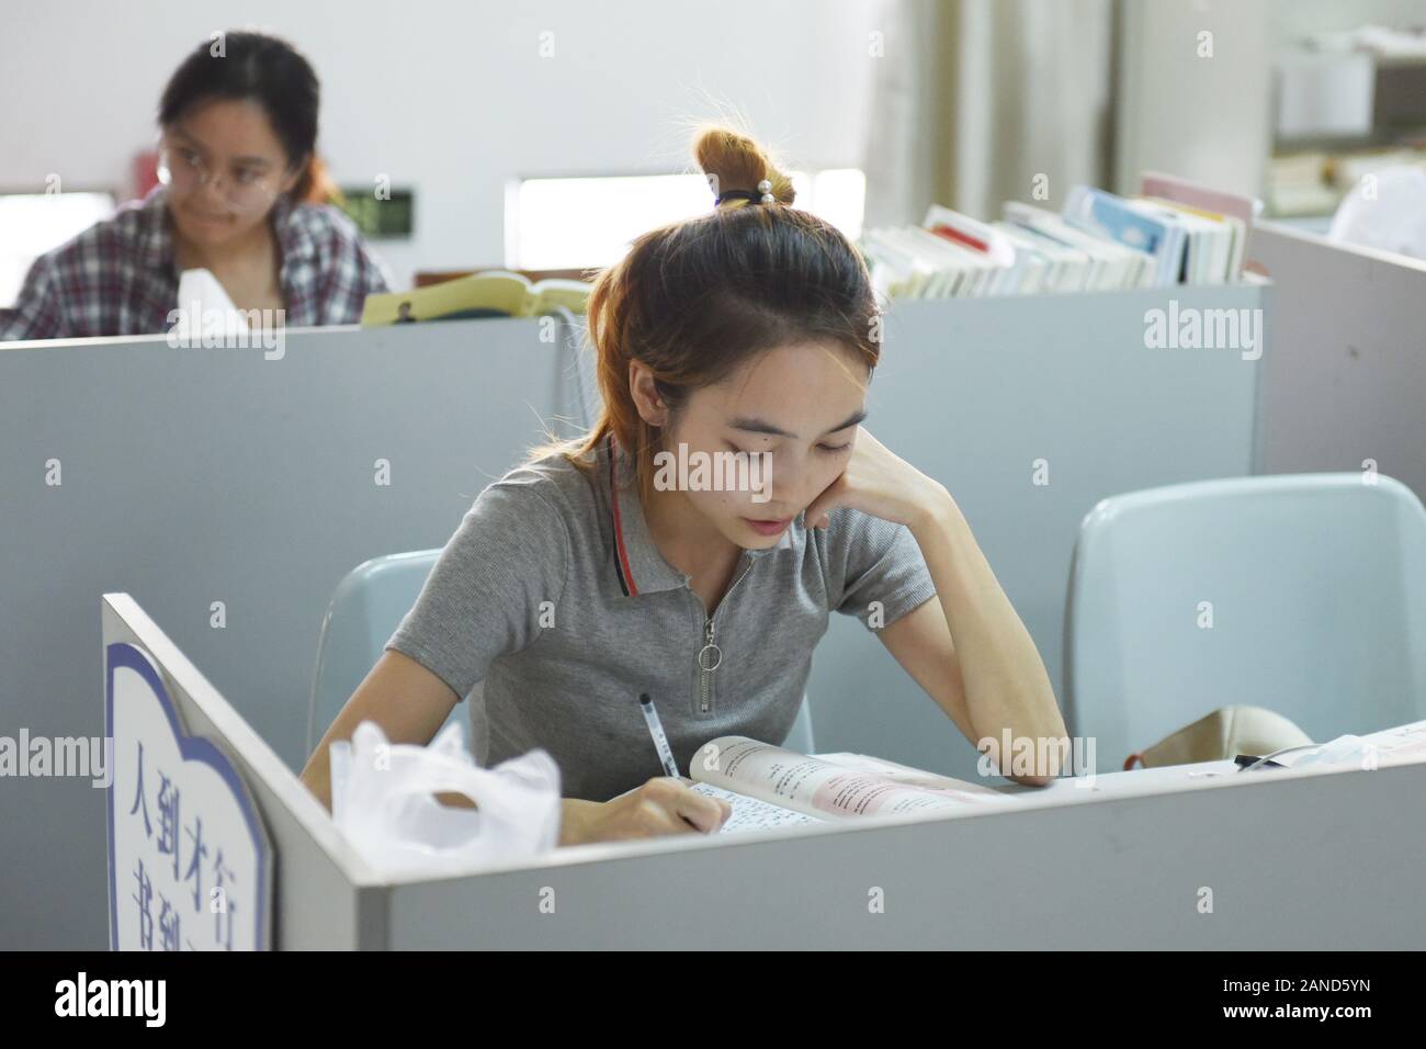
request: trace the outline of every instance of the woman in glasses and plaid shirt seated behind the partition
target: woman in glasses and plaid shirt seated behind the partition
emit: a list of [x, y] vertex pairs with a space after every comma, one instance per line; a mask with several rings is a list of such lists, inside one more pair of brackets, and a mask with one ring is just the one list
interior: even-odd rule
[[[178, 67], [158, 106], [160, 184], [30, 267], [0, 340], [168, 331], [178, 274], [205, 268], [238, 310], [289, 327], [354, 324], [381, 264], [321, 197], [318, 83], [282, 40], [228, 33]], [[265, 324], [264, 327], [271, 327]]]

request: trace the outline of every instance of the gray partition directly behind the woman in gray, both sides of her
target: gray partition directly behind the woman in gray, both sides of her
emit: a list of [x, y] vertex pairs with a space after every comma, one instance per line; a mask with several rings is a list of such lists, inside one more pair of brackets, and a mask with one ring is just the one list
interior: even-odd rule
[[[1111, 494], [1253, 467], [1261, 363], [1149, 348], [1147, 311], [1256, 310], [1269, 294], [1245, 284], [888, 313], [867, 427], [955, 497], [1057, 689], [1084, 514]], [[548, 331], [538, 320], [298, 330], [279, 360], [163, 337], [0, 345], [0, 732], [103, 732], [96, 607], [127, 592], [299, 769], [318, 627], [342, 575], [442, 545], [545, 424], [572, 432], [588, 418], [589, 363], [563, 331], [542, 341]], [[378, 460], [389, 485], [375, 482]], [[46, 482], [53, 461], [58, 485]], [[970, 742], [853, 618], [833, 617], [809, 695], [820, 751], [974, 775]], [[0, 825], [3, 946], [103, 948], [101, 791], [13, 779]]]

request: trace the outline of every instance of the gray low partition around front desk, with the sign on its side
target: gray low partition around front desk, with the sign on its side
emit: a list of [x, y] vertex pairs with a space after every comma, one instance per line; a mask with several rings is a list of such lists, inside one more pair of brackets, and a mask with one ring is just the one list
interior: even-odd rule
[[[104, 644], [148, 654], [180, 719], [221, 746], [262, 812], [279, 951], [1380, 951], [1419, 946], [1426, 922], [1426, 808], [1399, 804], [1426, 789], [1422, 762], [1156, 768], [1008, 788], [1008, 804], [935, 819], [599, 842], [465, 875], [382, 876], [130, 595], [101, 604]], [[1373, 891], [1343, 893], [1363, 855]]]

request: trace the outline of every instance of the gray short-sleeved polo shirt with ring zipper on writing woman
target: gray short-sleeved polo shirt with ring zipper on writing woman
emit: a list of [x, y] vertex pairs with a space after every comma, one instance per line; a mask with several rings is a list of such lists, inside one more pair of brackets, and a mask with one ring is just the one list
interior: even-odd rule
[[550, 455], [481, 492], [386, 648], [462, 698], [483, 681], [482, 764], [543, 746], [566, 798], [607, 801], [663, 774], [640, 692], [683, 772], [716, 736], [780, 744], [831, 609], [888, 627], [935, 595], [904, 525], [830, 518], [744, 551], [704, 671], [703, 602], [655, 547], [627, 455], [609, 441], [589, 470]]

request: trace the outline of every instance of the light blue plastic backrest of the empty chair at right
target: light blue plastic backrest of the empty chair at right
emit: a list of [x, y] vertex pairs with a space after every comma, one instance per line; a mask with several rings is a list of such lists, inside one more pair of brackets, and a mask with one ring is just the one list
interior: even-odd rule
[[1316, 741], [1426, 718], [1426, 511], [1362, 474], [1104, 500], [1079, 527], [1064, 669], [1101, 771], [1231, 704]]

